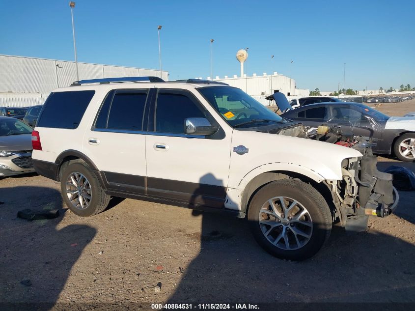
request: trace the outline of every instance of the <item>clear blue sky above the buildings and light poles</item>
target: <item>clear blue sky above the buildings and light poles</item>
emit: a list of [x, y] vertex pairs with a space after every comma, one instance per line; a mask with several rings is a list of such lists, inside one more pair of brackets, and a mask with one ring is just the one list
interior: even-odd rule
[[[0, 54], [73, 60], [68, 0], [1, 0]], [[159, 68], [169, 79], [277, 71], [298, 88], [415, 86], [415, 1], [77, 0], [78, 61]], [[273, 63], [271, 55], [275, 55]], [[293, 60], [293, 63], [290, 63]]]

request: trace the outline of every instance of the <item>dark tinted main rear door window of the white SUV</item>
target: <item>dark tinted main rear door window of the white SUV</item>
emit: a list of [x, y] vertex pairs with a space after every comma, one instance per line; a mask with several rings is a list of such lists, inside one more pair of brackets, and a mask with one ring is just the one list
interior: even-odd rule
[[142, 130], [147, 93], [115, 93], [108, 116], [108, 128], [117, 130]]

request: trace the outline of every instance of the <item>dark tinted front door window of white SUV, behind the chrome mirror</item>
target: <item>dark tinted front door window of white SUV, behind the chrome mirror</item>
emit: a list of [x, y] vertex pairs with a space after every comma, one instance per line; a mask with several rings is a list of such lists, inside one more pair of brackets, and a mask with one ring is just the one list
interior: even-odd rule
[[159, 94], [156, 108], [156, 131], [184, 133], [186, 118], [204, 118], [194, 102], [181, 94]]

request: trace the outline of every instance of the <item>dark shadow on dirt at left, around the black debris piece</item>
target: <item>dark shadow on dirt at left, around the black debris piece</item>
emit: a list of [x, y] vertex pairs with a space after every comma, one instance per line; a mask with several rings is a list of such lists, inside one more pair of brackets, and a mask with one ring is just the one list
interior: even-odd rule
[[[16, 196], [19, 193], [25, 196]], [[0, 309], [17, 304], [20, 310], [34, 306], [36, 310], [49, 310], [57, 301], [73, 265], [94, 238], [96, 229], [62, 225], [66, 209], [62, 209], [60, 193], [55, 189], [3, 188], [0, 200], [3, 202], [0, 206]], [[36, 221], [17, 218], [17, 212], [25, 208], [58, 209], [60, 215]], [[47, 304], [25, 305], [44, 302]]]

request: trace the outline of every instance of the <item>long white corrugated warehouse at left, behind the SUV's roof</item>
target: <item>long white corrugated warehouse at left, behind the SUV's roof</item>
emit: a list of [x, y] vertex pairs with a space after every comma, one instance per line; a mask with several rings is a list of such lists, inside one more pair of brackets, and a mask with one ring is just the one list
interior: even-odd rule
[[[79, 79], [155, 76], [168, 80], [168, 72], [78, 62]], [[49, 93], [69, 86], [76, 77], [74, 61], [0, 55], [0, 107], [43, 104]]]

